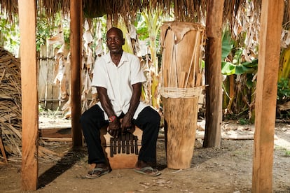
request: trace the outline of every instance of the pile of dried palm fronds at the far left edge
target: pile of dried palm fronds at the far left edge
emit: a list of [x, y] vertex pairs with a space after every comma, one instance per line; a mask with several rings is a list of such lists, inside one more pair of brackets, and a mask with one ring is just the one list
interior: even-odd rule
[[6, 151], [21, 155], [20, 60], [0, 48], [0, 134]]

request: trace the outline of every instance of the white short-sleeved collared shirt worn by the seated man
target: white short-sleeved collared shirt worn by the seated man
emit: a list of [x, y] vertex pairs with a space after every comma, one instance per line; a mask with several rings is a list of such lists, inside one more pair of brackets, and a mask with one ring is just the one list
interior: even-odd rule
[[[141, 69], [139, 59], [135, 55], [123, 52], [118, 66], [112, 62], [110, 53], [99, 57], [95, 62], [92, 86], [106, 88], [113, 110], [117, 116], [122, 112], [127, 113], [129, 109], [133, 93], [132, 85], [144, 82], [146, 82], [146, 77]], [[102, 108], [100, 102], [97, 105]], [[146, 106], [149, 105], [140, 101], [134, 113], [134, 119], [137, 118], [141, 110]], [[102, 110], [104, 111], [104, 108]], [[104, 117], [108, 120], [106, 112], [104, 112]]]

